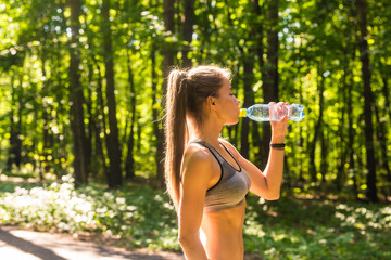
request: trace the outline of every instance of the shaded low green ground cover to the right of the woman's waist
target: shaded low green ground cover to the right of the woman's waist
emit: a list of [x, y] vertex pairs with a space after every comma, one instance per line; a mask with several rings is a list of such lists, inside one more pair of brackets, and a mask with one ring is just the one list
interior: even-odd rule
[[[265, 259], [387, 259], [390, 207], [338, 200], [250, 198], [247, 251]], [[386, 243], [384, 243], [386, 242]]]

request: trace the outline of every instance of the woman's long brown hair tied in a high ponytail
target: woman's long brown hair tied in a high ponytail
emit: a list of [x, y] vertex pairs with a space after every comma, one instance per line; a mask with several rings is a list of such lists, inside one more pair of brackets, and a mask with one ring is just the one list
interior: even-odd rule
[[223, 79], [230, 72], [216, 66], [199, 66], [190, 70], [174, 69], [168, 75], [165, 102], [165, 180], [167, 191], [178, 208], [180, 198], [180, 164], [189, 141], [186, 115], [197, 123], [203, 122], [203, 104], [209, 96], [216, 96]]

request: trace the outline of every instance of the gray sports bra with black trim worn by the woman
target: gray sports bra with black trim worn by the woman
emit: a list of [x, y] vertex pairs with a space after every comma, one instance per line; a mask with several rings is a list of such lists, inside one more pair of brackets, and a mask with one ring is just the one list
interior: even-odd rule
[[250, 191], [251, 180], [249, 174], [240, 167], [229, 150], [220, 143], [237, 162], [239, 170], [229, 165], [228, 161], [226, 161], [224, 157], [209, 143], [201, 140], [195, 140], [191, 143], [198, 143], [209, 148], [222, 169], [218, 182], [206, 191], [204, 212], [229, 209], [242, 204], [245, 195]]

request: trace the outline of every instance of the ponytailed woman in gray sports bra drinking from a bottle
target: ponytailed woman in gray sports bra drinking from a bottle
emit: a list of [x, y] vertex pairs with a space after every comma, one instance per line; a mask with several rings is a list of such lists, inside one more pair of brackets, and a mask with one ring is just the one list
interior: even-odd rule
[[239, 120], [240, 101], [229, 79], [227, 69], [214, 66], [168, 76], [165, 177], [178, 213], [179, 243], [191, 260], [243, 259], [247, 193], [279, 198], [288, 118], [272, 122], [272, 148], [262, 172], [219, 139], [225, 125]]

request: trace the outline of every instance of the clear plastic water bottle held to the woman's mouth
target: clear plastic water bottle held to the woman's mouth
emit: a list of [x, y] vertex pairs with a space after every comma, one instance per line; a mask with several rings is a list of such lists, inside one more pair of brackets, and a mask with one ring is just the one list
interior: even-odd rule
[[[281, 109], [281, 106], [282, 109]], [[249, 108], [240, 109], [240, 117], [249, 117], [255, 121], [279, 121], [285, 115], [292, 121], [303, 120], [304, 106], [300, 104], [277, 105], [277, 104], [256, 104]]]

